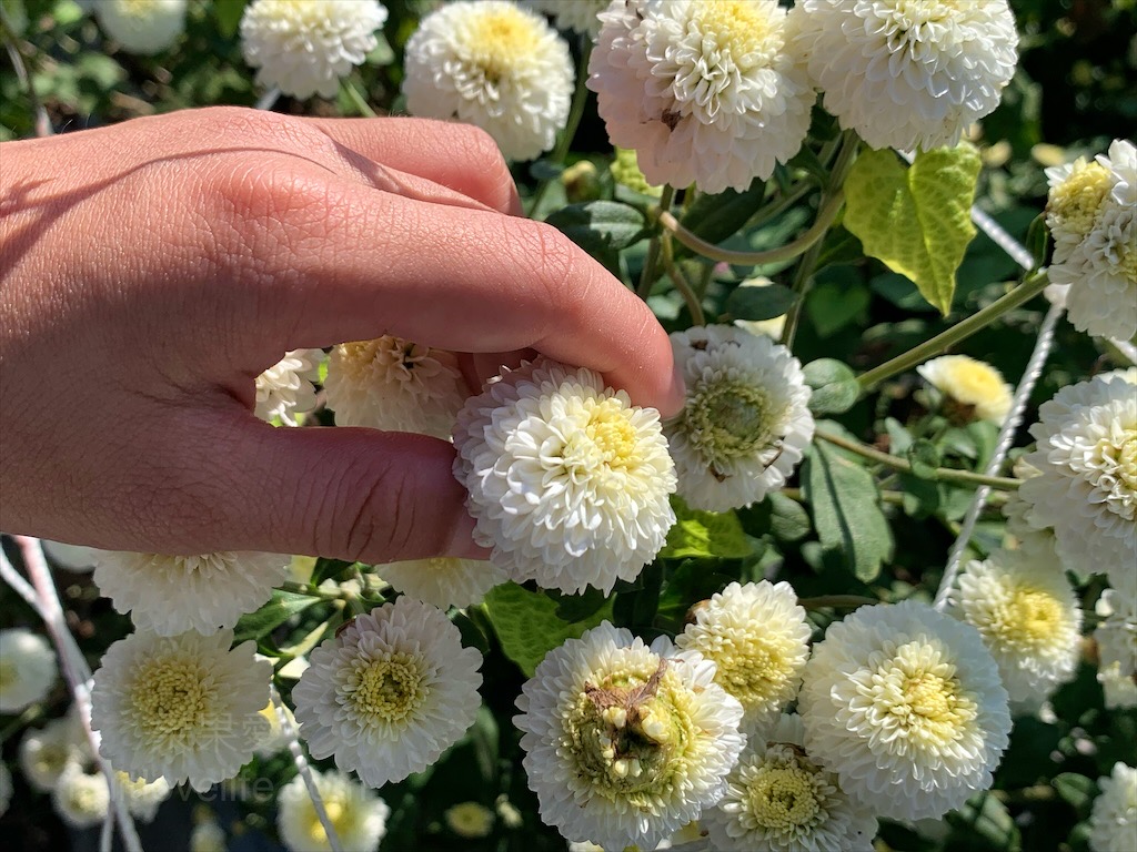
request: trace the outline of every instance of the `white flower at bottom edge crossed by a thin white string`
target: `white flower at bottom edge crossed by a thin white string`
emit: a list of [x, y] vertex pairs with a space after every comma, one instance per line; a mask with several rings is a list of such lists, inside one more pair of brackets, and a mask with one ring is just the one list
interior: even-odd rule
[[[313, 770], [312, 779], [339, 837], [338, 849], [343, 852], [374, 852], [387, 834], [387, 818], [391, 815], [387, 802], [373, 790], [334, 769], [327, 772]], [[290, 852], [330, 852], [332, 849], [299, 775], [285, 784], [276, 796], [276, 830]]]

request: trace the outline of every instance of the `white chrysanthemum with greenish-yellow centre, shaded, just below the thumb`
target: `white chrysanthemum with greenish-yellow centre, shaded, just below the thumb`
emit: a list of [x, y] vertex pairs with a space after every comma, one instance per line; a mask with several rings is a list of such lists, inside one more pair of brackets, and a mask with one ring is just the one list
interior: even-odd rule
[[300, 735], [372, 787], [429, 767], [478, 713], [481, 655], [412, 598], [357, 616], [309, 660], [292, 690]]

